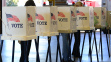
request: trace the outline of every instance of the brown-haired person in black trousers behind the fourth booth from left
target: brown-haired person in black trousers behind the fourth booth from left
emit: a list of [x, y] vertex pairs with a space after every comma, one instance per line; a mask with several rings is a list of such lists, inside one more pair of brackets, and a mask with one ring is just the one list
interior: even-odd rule
[[[81, 2], [77, 2], [75, 4], [75, 6], [82, 7], [83, 4]], [[80, 40], [81, 40], [80, 30], [78, 30], [76, 33], [74, 33], [74, 36], [75, 36], [75, 43], [73, 46], [72, 55], [74, 56], [74, 58], [80, 58]]]

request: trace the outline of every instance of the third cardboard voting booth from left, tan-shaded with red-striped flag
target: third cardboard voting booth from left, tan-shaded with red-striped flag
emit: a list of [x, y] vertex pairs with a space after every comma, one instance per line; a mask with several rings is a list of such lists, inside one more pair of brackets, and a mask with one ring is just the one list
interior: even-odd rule
[[58, 31], [72, 33], [76, 31], [76, 11], [74, 6], [58, 7]]

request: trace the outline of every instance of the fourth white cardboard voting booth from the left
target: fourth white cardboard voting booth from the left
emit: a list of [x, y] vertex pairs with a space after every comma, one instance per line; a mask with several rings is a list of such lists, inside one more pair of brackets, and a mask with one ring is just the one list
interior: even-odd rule
[[77, 30], [94, 30], [93, 7], [77, 7]]

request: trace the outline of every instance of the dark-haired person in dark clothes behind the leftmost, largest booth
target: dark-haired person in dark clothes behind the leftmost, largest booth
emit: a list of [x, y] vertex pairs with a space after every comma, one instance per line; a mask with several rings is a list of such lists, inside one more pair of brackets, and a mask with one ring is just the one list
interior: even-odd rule
[[[33, 0], [28, 0], [25, 3], [25, 6], [36, 6]], [[29, 53], [30, 53], [30, 48], [31, 48], [31, 42], [32, 40], [28, 40], [28, 41], [21, 41], [21, 57], [20, 57], [20, 62], [24, 62], [25, 59], [25, 53], [26, 53], [26, 48], [27, 48], [27, 62], [29, 62]], [[26, 46], [25, 46], [26, 45]]]

